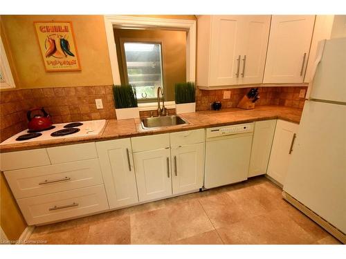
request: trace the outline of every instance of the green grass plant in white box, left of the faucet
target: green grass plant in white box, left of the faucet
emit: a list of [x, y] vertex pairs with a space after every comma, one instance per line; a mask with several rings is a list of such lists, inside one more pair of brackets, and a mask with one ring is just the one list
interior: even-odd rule
[[117, 119], [139, 117], [136, 89], [131, 85], [113, 86]]

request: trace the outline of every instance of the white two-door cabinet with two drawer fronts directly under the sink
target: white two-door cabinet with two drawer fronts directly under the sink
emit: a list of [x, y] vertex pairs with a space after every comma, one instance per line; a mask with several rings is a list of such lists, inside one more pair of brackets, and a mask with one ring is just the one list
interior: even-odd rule
[[200, 189], [204, 140], [204, 129], [132, 138], [139, 201]]

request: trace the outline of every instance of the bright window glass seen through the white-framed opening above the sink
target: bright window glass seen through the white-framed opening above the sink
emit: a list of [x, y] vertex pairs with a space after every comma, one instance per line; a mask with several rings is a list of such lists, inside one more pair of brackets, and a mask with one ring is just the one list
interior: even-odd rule
[[162, 50], [160, 43], [124, 42], [127, 83], [136, 88], [139, 102], [156, 99], [163, 88]]

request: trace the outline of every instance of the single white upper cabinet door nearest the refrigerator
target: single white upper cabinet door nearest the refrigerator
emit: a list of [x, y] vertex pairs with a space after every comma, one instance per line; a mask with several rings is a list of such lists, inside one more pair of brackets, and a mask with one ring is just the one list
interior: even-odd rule
[[315, 15], [273, 15], [264, 83], [302, 83]]

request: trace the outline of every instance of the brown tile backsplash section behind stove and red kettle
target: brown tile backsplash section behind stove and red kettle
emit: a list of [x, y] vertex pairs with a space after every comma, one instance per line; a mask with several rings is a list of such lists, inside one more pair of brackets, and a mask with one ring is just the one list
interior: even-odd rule
[[[102, 99], [102, 109], [95, 99]], [[0, 142], [26, 129], [26, 112], [35, 107], [44, 107], [55, 124], [116, 119], [112, 86], [7, 90], [0, 93]]]

